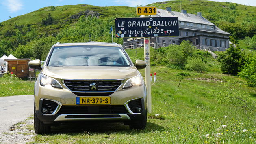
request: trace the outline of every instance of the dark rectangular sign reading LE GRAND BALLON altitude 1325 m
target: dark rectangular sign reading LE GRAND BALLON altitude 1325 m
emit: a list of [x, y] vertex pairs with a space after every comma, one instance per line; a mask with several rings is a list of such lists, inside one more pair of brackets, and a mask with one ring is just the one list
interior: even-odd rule
[[116, 18], [117, 38], [178, 36], [178, 17]]

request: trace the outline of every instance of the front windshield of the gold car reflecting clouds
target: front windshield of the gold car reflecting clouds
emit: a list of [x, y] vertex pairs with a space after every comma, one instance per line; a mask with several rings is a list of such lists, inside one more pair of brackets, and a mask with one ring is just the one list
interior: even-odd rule
[[48, 66], [130, 66], [120, 47], [54, 47]]

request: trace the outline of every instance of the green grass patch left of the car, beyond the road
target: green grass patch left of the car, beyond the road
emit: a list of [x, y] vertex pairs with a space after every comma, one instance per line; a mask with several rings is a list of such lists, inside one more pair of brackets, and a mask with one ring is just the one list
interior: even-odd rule
[[33, 95], [34, 81], [11, 78], [9, 76], [0, 77], [0, 97], [12, 95]]

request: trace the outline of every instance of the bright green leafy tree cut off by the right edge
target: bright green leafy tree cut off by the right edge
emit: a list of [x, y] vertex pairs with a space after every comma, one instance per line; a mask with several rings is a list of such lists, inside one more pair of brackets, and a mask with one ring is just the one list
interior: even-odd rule
[[256, 87], [256, 55], [249, 59], [238, 75], [245, 78], [250, 87]]

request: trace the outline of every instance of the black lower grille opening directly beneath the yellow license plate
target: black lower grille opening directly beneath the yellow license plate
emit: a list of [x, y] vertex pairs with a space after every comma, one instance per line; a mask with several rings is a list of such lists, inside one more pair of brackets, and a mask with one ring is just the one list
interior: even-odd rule
[[107, 106], [61, 106], [58, 114], [125, 114], [124, 105]]

